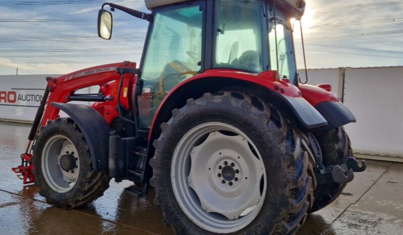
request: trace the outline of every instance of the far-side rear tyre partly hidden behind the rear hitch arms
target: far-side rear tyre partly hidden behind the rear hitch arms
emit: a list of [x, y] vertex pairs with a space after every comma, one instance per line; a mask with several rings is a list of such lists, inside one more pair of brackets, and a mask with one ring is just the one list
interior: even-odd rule
[[[345, 164], [346, 157], [352, 157], [351, 143], [344, 128], [339, 127], [329, 131], [318, 132], [314, 135], [321, 148], [323, 165], [325, 167]], [[318, 211], [332, 203], [343, 192], [346, 185], [338, 183], [318, 185], [315, 190], [315, 203], [310, 213]]]

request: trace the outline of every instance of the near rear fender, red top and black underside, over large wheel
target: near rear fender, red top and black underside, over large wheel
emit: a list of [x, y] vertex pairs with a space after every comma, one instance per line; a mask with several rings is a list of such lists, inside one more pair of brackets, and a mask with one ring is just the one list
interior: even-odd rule
[[186, 104], [189, 98], [198, 98], [206, 92], [222, 90], [241, 91], [260, 97], [277, 108], [295, 117], [296, 122], [306, 129], [327, 125], [323, 116], [294, 85], [273, 79], [275, 71], [261, 74], [233, 70], [209, 70], [175, 86], [164, 98], [150, 127], [149, 140], [158, 138], [160, 125], [171, 118], [171, 111]]

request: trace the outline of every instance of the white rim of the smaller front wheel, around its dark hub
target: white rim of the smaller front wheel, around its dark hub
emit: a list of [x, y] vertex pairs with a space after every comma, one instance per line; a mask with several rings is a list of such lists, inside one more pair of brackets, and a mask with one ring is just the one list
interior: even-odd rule
[[[60, 159], [65, 154], [74, 156], [74, 169], [69, 171], [62, 169]], [[43, 147], [41, 164], [43, 177], [54, 191], [66, 193], [77, 183], [80, 159], [76, 147], [69, 138], [62, 135], [50, 138]]]

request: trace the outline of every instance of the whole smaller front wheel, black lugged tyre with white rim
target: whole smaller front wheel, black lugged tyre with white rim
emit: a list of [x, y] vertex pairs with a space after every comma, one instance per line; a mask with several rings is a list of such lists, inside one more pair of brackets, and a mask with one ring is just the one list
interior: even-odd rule
[[69, 118], [48, 121], [34, 147], [34, 174], [39, 194], [64, 209], [82, 206], [109, 188], [105, 170], [94, 170], [80, 129]]

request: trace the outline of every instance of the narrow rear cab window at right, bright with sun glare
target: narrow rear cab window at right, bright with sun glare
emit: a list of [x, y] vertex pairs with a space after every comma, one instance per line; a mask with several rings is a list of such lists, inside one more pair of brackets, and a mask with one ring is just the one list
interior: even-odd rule
[[280, 10], [277, 9], [274, 14], [273, 8], [268, 8], [270, 69], [277, 70], [280, 78], [288, 78], [293, 83], [297, 71], [290, 22]]

